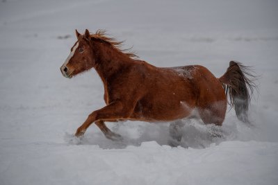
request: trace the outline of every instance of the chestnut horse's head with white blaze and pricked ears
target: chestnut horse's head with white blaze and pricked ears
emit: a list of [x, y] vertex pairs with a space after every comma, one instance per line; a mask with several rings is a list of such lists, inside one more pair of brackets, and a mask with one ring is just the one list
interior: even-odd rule
[[77, 41], [70, 50], [70, 55], [65, 63], [60, 67], [63, 76], [72, 78], [76, 74], [87, 71], [95, 66], [95, 58], [90, 43], [90, 32], [85, 30], [85, 34], [81, 35], [76, 30]]

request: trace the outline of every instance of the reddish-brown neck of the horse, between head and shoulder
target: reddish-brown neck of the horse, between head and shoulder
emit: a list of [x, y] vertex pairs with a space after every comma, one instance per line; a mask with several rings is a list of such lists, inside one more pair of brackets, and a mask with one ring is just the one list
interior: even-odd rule
[[96, 62], [95, 69], [106, 84], [107, 80], [115, 77], [115, 74], [131, 64], [131, 59], [113, 47], [99, 43]]

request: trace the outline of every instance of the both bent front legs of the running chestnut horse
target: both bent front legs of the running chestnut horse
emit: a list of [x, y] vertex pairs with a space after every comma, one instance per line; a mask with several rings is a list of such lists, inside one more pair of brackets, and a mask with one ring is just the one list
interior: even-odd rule
[[[115, 121], [117, 119], [126, 119], [133, 112], [133, 106], [125, 106], [124, 103], [117, 101], [103, 107], [102, 109], [92, 112], [86, 121], [76, 130], [75, 136], [82, 136], [92, 123], [101, 129], [106, 136], [113, 135], [111, 131], [104, 125], [104, 121]], [[109, 132], [110, 131], [110, 132]]]

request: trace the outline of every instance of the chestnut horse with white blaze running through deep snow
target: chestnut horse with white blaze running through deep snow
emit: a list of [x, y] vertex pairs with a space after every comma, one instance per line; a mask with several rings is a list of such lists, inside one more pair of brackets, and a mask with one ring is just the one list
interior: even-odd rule
[[[105, 121], [175, 121], [201, 118], [205, 124], [222, 125], [227, 103], [238, 118], [247, 122], [254, 82], [239, 62], [231, 61], [227, 72], [215, 78], [205, 67], [154, 67], [136, 60], [134, 53], [120, 49], [122, 42], [105, 35], [104, 30], [81, 35], [60, 67], [63, 76], [72, 78], [95, 68], [104, 83], [106, 106], [88, 116], [76, 130], [82, 136], [95, 123], [108, 139], [121, 139]], [[251, 90], [251, 91], [250, 91]], [[229, 98], [227, 98], [229, 97]], [[229, 100], [227, 100], [229, 99]]]

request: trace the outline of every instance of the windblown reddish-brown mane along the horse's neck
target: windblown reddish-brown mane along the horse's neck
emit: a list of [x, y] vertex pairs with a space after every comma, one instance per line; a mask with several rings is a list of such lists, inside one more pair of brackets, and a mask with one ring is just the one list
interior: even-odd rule
[[115, 39], [115, 37], [108, 37], [106, 35], [106, 30], [97, 30], [97, 32], [95, 34], [90, 35], [90, 38], [91, 39], [99, 39], [102, 42], [107, 42], [108, 44], [111, 44], [111, 46], [113, 46], [118, 51], [121, 51], [122, 53], [127, 55], [129, 58], [133, 58], [133, 59], [138, 58], [138, 56], [133, 51], [130, 51], [131, 48], [130, 49], [121, 49], [122, 44], [124, 42], [117, 41], [117, 39]]

